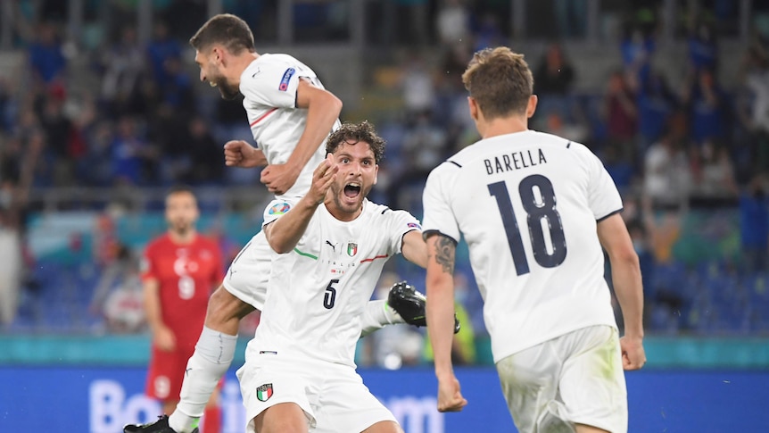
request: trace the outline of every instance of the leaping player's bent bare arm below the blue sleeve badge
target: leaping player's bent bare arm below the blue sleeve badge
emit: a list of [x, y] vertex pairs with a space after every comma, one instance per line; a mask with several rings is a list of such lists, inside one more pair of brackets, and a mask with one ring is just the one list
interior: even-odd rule
[[294, 152], [285, 164], [272, 164], [261, 172], [261, 183], [271, 193], [283, 194], [294, 186], [299, 173], [334, 128], [342, 112], [342, 101], [331, 92], [300, 79], [296, 88], [296, 107], [307, 109], [307, 122]]

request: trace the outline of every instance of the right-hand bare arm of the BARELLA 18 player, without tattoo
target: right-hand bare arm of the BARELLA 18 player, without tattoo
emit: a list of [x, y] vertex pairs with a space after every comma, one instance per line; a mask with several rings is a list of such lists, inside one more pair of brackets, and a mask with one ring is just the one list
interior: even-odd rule
[[620, 339], [624, 370], [638, 370], [646, 362], [643, 350], [643, 284], [638, 254], [622, 217], [616, 213], [598, 223], [601, 246], [611, 262], [611, 279], [624, 318]]

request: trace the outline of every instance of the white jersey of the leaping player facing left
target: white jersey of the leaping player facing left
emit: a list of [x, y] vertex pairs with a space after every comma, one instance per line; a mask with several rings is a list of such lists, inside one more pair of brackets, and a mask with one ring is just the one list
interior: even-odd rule
[[[302, 78], [324, 88], [314, 71], [288, 54], [261, 54], [240, 77], [240, 93], [253, 140], [269, 164], [288, 161], [302, 137], [307, 109], [296, 108], [296, 88]], [[337, 120], [334, 129], [338, 127]], [[283, 196], [303, 196], [310, 189], [312, 171], [325, 157], [324, 141]]]

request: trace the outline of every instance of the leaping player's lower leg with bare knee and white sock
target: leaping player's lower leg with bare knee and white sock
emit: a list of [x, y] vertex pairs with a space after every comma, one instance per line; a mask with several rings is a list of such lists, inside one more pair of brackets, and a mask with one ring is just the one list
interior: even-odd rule
[[211, 295], [203, 332], [187, 362], [181, 401], [169, 417], [169, 426], [177, 433], [192, 432], [197, 426], [206, 403], [235, 356], [240, 321], [254, 310], [224, 287]]

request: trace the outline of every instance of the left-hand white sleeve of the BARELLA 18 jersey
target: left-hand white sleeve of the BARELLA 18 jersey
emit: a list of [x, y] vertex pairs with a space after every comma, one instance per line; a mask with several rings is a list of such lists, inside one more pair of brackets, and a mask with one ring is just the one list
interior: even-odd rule
[[451, 209], [448, 191], [451, 190], [451, 176], [448, 170], [452, 168], [443, 163], [436, 167], [427, 177], [425, 190], [422, 193], [422, 207], [425, 217], [422, 221], [422, 233], [441, 233], [459, 243], [459, 225]]

